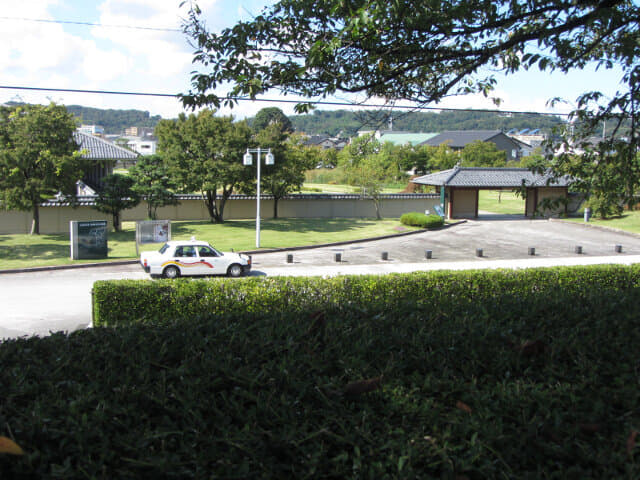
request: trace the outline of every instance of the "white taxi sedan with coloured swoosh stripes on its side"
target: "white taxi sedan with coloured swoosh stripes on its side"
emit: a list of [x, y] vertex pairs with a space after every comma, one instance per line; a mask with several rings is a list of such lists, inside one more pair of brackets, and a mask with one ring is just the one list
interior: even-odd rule
[[239, 277], [251, 270], [251, 257], [221, 252], [207, 242], [195, 239], [174, 240], [158, 251], [140, 254], [145, 272], [154, 276], [177, 278], [183, 275], [229, 275]]

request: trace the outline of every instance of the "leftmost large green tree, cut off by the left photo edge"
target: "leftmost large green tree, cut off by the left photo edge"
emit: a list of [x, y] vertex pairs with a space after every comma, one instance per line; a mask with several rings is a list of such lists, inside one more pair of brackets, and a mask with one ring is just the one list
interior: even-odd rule
[[31, 211], [31, 234], [40, 233], [42, 201], [75, 196], [86, 168], [75, 128], [64, 106], [0, 107], [0, 207]]

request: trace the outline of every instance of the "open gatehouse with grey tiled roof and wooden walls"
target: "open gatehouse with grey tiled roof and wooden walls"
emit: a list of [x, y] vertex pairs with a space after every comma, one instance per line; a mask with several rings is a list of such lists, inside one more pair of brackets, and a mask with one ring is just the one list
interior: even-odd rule
[[523, 188], [526, 198], [523, 213], [533, 217], [561, 213], [543, 205], [550, 200], [566, 199], [571, 179], [555, 178], [550, 173], [536, 174], [526, 168], [455, 167], [414, 178], [411, 182], [435, 186], [448, 218], [477, 218], [480, 190]]

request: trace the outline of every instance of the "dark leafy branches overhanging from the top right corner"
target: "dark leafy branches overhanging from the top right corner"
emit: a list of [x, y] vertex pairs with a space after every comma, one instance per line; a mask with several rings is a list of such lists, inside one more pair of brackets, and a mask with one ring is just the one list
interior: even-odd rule
[[[196, 44], [194, 62], [208, 70], [194, 74], [192, 90], [183, 95], [191, 106], [233, 105], [271, 89], [424, 105], [454, 94], [490, 96], [496, 73], [588, 66], [619, 71], [620, 89], [610, 98], [601, 92], [577, 98], [572, 117], [584, 128], [576, 130], [580, 136], [570, 139], [568, 152], [581, 150], [576, 146], [606, 121], [609, 137], [586, 149], [592, 154], [585, 162], [598, 157], [593, 182], [600, 171], [608, 176], [614, 170], [626, 175], [627, 193], [640, 184], [633, 167], [640, 147], [637, 1], [279, 0], [220, 33], [207, 31], [194, 6], [185, 28]], [[226, 96], [212, 93], [227, 85]], [[309, 108], [301, 103], [297, 111]], [[618, 144], [622, 136], [626, 148]], [[557, 166], [564, 174], [566, 165]]]

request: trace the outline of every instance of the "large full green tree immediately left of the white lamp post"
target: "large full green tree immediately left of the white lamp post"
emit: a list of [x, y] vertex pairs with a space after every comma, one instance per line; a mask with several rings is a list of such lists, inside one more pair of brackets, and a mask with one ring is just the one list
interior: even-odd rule
[[199, 192], [212, 222], [224, 221], [227, 200], [251, 174], [242, 164], [251, 134], [246, 122], [216, 117], [211, 110], [181, 114], [156, 127], [158, 148], [179, 191]]

